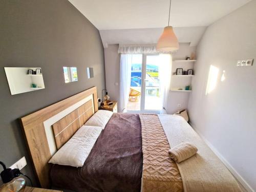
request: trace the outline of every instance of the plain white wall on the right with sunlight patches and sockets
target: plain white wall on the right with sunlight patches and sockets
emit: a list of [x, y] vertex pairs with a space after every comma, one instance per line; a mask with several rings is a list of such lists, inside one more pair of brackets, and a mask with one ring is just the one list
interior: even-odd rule
[[[256, 190], [256, 0], [209, 26], [197, 47], [188, 112], [194, 129]], [[254, 58], [251, 67], [238, 59]], [[209, 67], [219, 69], [205, 95]], [[221, 75], [225, 70], [225, 80]], [[248, 187], [247, 187], [248, 189]]]

